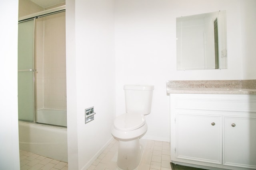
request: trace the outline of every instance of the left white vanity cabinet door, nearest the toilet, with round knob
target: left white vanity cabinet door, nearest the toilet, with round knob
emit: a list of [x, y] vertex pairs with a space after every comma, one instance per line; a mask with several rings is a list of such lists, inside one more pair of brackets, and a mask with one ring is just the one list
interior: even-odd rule
[[222, 164], [222, 117], [177, 114], [176, 158]]

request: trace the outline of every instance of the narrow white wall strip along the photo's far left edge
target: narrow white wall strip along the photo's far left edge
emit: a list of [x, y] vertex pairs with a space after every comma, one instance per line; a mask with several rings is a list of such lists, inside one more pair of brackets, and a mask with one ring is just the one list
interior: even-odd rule
[[0, 6], [0, 169], [18, 170], [18, 0]]

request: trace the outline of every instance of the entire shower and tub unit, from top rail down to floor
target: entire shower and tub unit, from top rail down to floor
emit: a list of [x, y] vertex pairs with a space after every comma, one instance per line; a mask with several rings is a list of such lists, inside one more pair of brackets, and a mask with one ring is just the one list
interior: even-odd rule
[[20, 150], [68, 162], [65, 6], [18, 23]]

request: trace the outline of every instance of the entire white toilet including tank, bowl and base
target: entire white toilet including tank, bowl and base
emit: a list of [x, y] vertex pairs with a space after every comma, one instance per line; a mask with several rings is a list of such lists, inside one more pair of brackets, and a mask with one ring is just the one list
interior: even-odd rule
[[139, 139], [148, 129], [145, 115], [151, 111], [153, 90], [150, 85], [124, 85], [126, 113], [116, 117], [111, 129], [119, 141], [117, 165], [122, 170], [134, 170], [140, 164]]

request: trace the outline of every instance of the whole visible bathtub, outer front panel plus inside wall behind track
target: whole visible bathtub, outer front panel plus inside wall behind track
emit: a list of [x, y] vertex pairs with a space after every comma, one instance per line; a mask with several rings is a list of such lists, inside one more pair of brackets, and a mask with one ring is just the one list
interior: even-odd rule
[[20, 150], [68, 162], [66, 111], [40, 109], [37, 119], [44, 124], [19, 121]]

